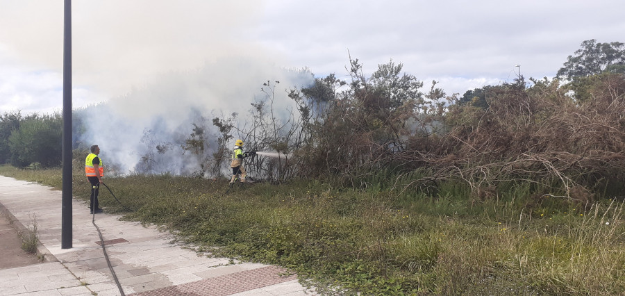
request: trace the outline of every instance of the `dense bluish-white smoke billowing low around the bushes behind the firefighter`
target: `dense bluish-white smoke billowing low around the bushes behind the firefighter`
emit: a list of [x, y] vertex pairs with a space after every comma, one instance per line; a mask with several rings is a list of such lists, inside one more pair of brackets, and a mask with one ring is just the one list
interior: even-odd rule
[[[236, 75], [235, 67], [240, 70]], [[155, 163], [150, 172], [197, 172], [202, 159], [210, 157], [217, 147], [213, 117], [238, 113], [239, 126], [251, 122], [250, 103], [266, 99], [267, 94], [260, 89], [267, 88], [263, 86], [267, 80], [272, 85], [273, 81], [280, 81], [276, 84], [273, 108], [278, 117], [286, 120], [289, 110], [295, 107], [287, 90], [310, 85], [313, 75], [242, 58], [163, 74], [124, 97], [85, 109], [82, 116], [86, 119], [87, 137], [81, 142], [99, 145], [103, 159], [115, 163], [122, 174], [136, 171], [149, 153]], [[205, 129], [205, 151], [200, 156], [183, 149], [193, 124]], [[165, 147], [165, 153], [156, 153], [157, 145]]]

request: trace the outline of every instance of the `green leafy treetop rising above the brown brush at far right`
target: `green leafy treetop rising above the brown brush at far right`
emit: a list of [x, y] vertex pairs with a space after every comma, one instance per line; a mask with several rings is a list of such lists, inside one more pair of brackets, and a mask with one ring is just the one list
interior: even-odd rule
[[625, 44], [622, 42], [597, 43], [594, 39], [585, 40], [581, 43], [581, 49], [574, 54], [558, 70], [559, 78], [574, 79], [606, 71], [625, 70]]

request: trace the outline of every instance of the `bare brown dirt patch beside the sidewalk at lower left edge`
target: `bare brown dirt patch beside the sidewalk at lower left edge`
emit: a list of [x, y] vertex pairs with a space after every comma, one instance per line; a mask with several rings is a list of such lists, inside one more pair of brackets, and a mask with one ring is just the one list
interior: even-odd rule
[[4, 211], [0, 211], [0, 270], [40, 263], [35, 254], [22, 250], [22, 238]]

